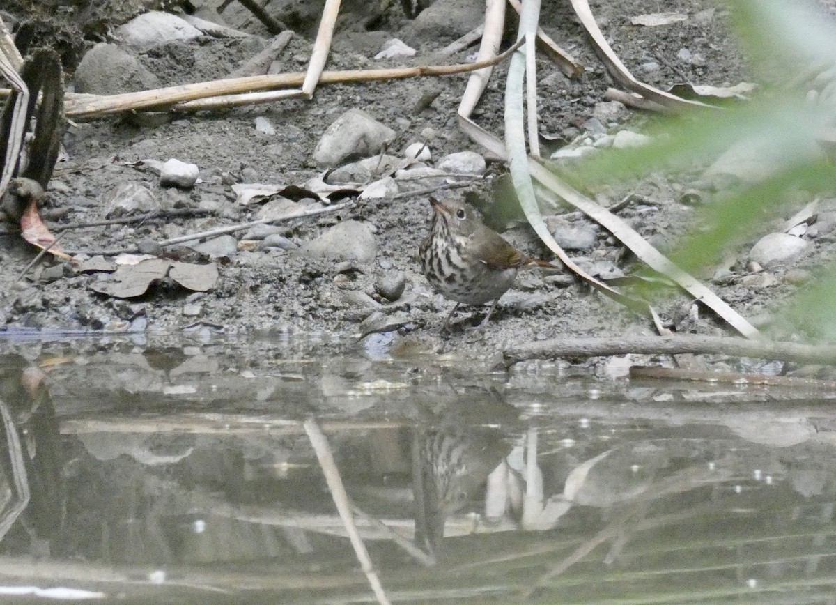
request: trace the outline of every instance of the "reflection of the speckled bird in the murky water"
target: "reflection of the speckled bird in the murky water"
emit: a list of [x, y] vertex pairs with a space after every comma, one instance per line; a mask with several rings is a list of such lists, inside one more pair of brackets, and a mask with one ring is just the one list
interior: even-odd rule
[[416, 428], [412, 448], [415, 542], [436, 552], [447, 517], [480, 495], [510, 451], [497, 428]]

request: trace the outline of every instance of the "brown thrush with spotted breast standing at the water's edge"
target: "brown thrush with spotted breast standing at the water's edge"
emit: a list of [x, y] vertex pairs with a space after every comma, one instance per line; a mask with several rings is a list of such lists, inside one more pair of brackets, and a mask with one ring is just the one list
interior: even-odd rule
[[430, 198], [433, 215], [430, 233], [418, 253], [421, 269], [436, 292], [455, 300], [443, 331], [461, 303], [492, 302], [480, 327], [487, 324], [499, 297], [511, 287], [517, 269], [536, 264], [559, 269], [544, 260], [532, 259], [508, 244], [499, 233], [486, 227], [464, 203], [439, 202]]

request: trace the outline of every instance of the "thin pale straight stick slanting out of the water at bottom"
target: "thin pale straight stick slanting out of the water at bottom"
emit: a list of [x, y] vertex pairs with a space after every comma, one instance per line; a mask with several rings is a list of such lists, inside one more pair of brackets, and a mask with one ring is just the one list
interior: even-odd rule
[[328, 444], [328, 439], [322, 429], [319, 428], [319, 423], [314, 418], [308, 418], [304, 423], [305, 433], [308, 433], [311, 445], [314, 446], [314, 452], [319, 460], [319, 466], [322, 467], [322, 472], [325, 475], [325, 482], [328, 484], [328, 489], [331, 492], [331, 497], [334, 498], [334, 505], [337, 506], [340, 518], [342, 518], [345, 525], [345, 531], [349, 535], [351, 546], [354, 546], [354, 553], [363, 567], [363, 572], [369, 579], [369, 584], [375, 597], [381, 605], [388, 605], [389, 599], [383, 591], [383, 586], [380, 584], [380, 578], [375, 572], [375, 567], [371, 562], [369, 551], [366, 550], [363, 539], [357, 531], [357, 526], [354, 525], [354, 517], [351, 516], [351, 504], [349, 502], [349, 495], [345, 493], [343, 480], [339, 477], [339, 469], [334, 462], [334, 456], [331, 454], [331, 448]]

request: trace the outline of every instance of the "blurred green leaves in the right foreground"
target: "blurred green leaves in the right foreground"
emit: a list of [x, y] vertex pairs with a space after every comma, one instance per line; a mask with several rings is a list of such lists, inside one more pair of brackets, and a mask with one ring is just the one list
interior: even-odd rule
[[[575, 187], [597, 187], [660, 170], [693, 172], [737, 149], [731, 162], [743, 158], [752, 170], [713, 179], [719, 192], [702, 205], [691, 233], [666, 251], [701, 275], [815, 197], [836, 197], [836, 14], [824, 18], [825, 9], [814, 2], [718, 4], [728, 11], [757, 78], [752, 100], [654, 120], [646, 129], [654, 145], [594, 154], [562, 174]], [[792, 322], [782, 329], [836, 336], [836, 264], [825, 260], [813, 273], [816, 279], [776, 310]]]

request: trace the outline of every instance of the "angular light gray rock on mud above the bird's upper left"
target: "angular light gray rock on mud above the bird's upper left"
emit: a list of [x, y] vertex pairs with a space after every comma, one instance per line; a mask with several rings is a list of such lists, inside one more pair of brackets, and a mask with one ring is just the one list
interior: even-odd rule
[[384, 126], [363, 110], [350, 109], [340, 115], [325, 131], [316, 149], [314, 162], [337, 167], [356, 156], [371, 156], [395, 139], [395, 131]]

